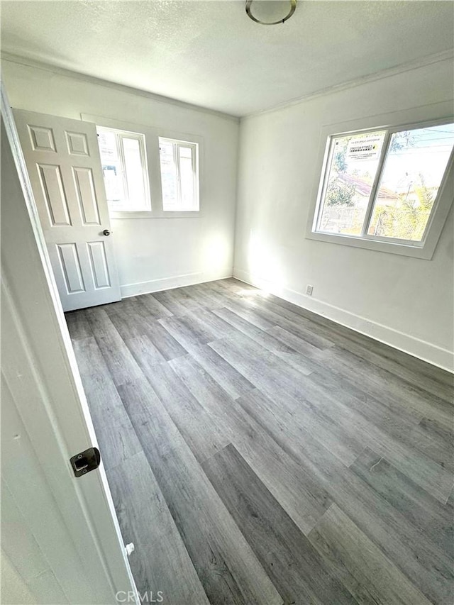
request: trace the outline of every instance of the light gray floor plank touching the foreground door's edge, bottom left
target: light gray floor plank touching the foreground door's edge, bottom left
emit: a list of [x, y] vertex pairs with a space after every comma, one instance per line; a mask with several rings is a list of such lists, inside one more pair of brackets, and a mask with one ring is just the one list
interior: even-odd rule
[[[140, 594], [163, 602], [209, 605], [192, 560], [142, 450], [109, 472], [109, 486]], [[178, 582], [175, 581], [178, 578]]]

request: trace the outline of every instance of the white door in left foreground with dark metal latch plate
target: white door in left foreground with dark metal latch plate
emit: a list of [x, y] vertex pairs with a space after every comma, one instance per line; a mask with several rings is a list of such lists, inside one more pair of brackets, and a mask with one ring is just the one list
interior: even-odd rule
[[2, 552], [36, 603], [138, 603], [3, 86], [0, 143]]

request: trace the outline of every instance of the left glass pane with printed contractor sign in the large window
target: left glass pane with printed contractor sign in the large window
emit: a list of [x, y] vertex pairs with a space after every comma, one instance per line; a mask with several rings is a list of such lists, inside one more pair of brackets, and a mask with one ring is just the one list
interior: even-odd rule
[[333, 137], [316, 231], [360, 235], [385, 131]]

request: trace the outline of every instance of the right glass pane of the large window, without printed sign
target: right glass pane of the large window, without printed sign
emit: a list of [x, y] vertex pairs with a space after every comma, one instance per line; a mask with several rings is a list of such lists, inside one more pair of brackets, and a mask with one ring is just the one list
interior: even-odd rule
[[421, 241], [454, 145], [454, 124], [394, 133], [367, 233]]

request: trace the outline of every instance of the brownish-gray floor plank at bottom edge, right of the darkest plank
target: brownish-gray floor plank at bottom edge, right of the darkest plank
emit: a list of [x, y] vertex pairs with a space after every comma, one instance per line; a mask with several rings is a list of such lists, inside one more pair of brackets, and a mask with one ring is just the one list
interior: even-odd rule
[[331, 569], [358, 603], [430, 605], [431, 601], [336, 504], [309, 533], [309, 540], [331, 563]]

